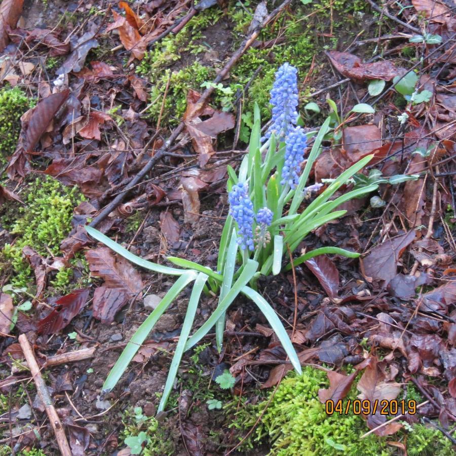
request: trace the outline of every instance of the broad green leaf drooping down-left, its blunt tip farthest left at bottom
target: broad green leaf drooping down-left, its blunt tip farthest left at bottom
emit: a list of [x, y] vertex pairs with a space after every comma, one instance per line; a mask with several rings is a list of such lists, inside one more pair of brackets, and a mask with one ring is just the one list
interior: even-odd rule
[[192, 281], [197, 278], [197, 273], [195, 271], [185, 271], [174, 283], [174, 285], [168, 290], [168, 292], [163, 296], [159, 305], [154, 309], [154, 311], [144, 320], [144, 322], [139, 326], [136, 332], [133, 334], [129, 343], [125, 347], [121, 356], [117, 360], [116, 364], [112, 367], [109, 372], [106, 380], [104, 381], [102, 391], [107, 392], [112, 390], [119, 382], [119, 378], [127, 369], [130, 361], [135, 356], [138, 349], [141, 347], [141, 344], [144, 342], [145, 338], [152, 330], [154, 325], [157, 323], [158, 319], [162, 316], [163, 312], [169, 307], [171, 302], [176, 298], [176, 296]]

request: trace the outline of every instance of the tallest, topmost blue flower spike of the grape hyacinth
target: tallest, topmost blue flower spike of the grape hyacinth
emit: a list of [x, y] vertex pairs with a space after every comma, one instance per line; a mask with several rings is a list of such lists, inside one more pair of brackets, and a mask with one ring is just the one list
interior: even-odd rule
[[297, 122], [297, 69], [289, 63], [284, 63], [276, 72], [270, 103], [273, 106], [272, 123], [263, 139], [268, 139], [272, 133], [286, 135], [289, 125]]

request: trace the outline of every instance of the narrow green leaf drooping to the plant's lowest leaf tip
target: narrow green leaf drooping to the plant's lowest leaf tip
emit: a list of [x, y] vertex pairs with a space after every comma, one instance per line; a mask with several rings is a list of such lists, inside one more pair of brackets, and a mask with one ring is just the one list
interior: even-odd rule
[[197, 279], [193, 285], [192, 294], [188, 301], [187, 311], [185, 313], [185, 319], [182, 324], [182, 329], [180, 331], [179, 341], [174, 350], [173, 360], [171, 361], [171, 366], [169, 367], [168, 377], [166, 378], [165, 389], [163, 390], [163, 396], [160, 399], [160, 404], [158, 406], [159, 412], [163, 411], [168, 401], [169, 395], [173, 389], [174, 379], [177, 375], [177, 369], [182, 359], [182, 354], [184, 352], [185, 343], [187, 341], [188, 335], [192, 330], [193, 322], [195, 320], [195, 314], [198, 308], [198, 302], [200, 301], [201, 292], [203, 291], [204, 285], [208, 276], [206, 274], [198, 274]]

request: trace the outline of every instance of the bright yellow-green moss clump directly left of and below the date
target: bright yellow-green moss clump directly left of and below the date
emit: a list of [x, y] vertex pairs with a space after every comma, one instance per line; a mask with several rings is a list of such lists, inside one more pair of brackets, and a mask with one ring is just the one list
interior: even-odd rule
[[[385, 439], [370, 435], [359, 437], [368, 429], [361, 416], [353, 413], [328, 415], [318, 400], [318, 390], [328, 387], [324, 371], [305, 367], [300, 376], [283, 379], [257, 428], [257, 440], [269, 436], [271, 454], [349, 454], [386, 456], [390, 450]], [[273, 393], [271, 393], [273, 394]], [[348, 399], [355, 399], [352, 391]], [[262, 413], [268, 400], [258, 405]]]

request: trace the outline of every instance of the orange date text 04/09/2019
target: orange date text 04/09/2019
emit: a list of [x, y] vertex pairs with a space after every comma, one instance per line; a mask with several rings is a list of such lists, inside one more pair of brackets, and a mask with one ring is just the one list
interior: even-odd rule
[[375, 415], [379, 412], [381, 415], [397, 415], [409, 413], [414, 415], [416, 413], [416, 401], [410, 400], [368, 400], [368, 399], [346, 399], [346, 400], [327, 400], [325, 402], [326, 413], [332, 415], [334, 413], [349, 414], [353, 412], [355, 415]]

